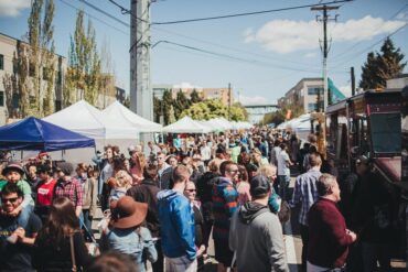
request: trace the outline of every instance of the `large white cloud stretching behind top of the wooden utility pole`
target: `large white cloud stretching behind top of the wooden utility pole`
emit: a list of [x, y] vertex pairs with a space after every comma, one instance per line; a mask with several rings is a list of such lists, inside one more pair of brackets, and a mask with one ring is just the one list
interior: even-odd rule
[[[404, 21], [384, 21], [382, 18], [364, 17], [329, 26], [334, 42], [366, 41], [376, 35], [390, 33], [402, 26]], [[258, 31], [244, 32], [245, 42], [257, 42], [267, 51], [290, 53], [319, 47], [322, 25], [316, 21], [273, 20]]]

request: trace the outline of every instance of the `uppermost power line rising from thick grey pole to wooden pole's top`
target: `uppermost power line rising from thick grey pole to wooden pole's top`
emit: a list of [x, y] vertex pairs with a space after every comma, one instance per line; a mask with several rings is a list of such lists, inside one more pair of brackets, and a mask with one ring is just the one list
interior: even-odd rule
[[[112, 0], [109, 0], [109, 1], [112, 1]], [[168, 21], [168, 22], [152, 22], [151, 24], [152, 25], [154, 24], [176, 24], [176, 23], [191, 23], [191, 22], [200, 22], [200, 21], [219, 20], [219, 19], [227, 19], [227, 18], [257, 15], [257, 14], [265, 14], [265, 13], [272, 13], [272, 12], [280, 12], [280, 11], [288, 11], [288, 10], [313, 8], [313, 7], [318, 7], [322, 4], [343, 3], [343, 2], [351, 2], [351, 1], [354, 1], [354, 0], [330, 1], [330, 2], [324, 2], [324, 3], [303, 4], [303, 6], [280, 8], [280, 9], [273, 9], [273, 10], [262, 10], [262, 11], [254, 11], [254, 12], [245, 12], [245, 13], [236, 13], [236, 14], [218, 15], [218, 17], [196, 18], [196, 19], [186, 19], [186, 20]]]

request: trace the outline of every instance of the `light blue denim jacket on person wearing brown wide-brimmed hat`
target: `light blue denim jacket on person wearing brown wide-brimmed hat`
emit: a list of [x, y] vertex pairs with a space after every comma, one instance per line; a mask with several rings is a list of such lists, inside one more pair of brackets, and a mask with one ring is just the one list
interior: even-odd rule
[[144, 272], [144, 264], [142, 260], [143, 251], [146, 258], [150, 262], [158, 260], [158, 252], [154, 248], [154, 242], [149, 229], [140, 227], [135, 230], [130, 229], [110, 229], [106, 235], [101, 236], [100, 250], [117, 250], [121, 253], [129, 254], [136, 262], [138, 271]]

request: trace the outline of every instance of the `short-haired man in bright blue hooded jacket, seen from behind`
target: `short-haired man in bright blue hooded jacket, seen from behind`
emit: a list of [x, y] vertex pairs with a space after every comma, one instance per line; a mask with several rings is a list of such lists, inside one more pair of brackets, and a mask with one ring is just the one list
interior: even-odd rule
[[195, 272], [194, 213], [183, 195], [190, 173], [186, 166], [173, 170], [174, 186], [158, 194], [160, 235], [165, 271]]

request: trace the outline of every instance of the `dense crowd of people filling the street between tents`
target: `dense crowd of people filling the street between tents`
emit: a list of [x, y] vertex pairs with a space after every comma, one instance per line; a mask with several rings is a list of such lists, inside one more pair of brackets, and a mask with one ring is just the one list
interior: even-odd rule
[[[348, 255], [357, 236], [371, 238], [366, 225], [361, 228], [369, 216], [362, 221], [347, 214], [361, 204], [365, 183], [358, 179], [366, 178], [368, 162], [359, 161], [362, 173], [347, 191], [357, 196], [340, 209], [337, 171], [319, 154], [314, 135], [301, 142], [290, 132], [260, 128], [170, 134], [163, 143], [131, 145], [127, 153], [107, 145], [92, 165], [75, 167], [43, 153], [24, 165], [4, 164], [0, 271], [97, 271], [98, 263], [129, 257], [135, 271], [146, 271], [147, 262], [153, 271], [205, 271], [211, 238], [217, 271], [289, 271], [282, 228], [289, 207], [300, 207], [303, 271], [345, 271], [347, 262], [357, 262], [351, 257], [358, 260], [358, 250]], [[291, 171], [299, 173], [292, 195]], [[366, 206], [372, 198], [364, 197], [364, 207], [372, 208]], [[92, 222], [98, 207], [104, 218], [95, 259]], [[389, 268], [385, 253], [369, 251], [373, 247], [369, 239], [363, 243], [359, 271], [373, 271], [377, 259]], [[116, 266], [111, 271], [133, 271]]]

